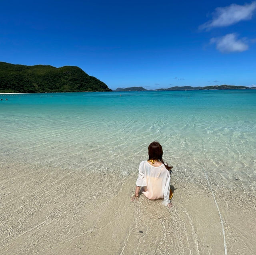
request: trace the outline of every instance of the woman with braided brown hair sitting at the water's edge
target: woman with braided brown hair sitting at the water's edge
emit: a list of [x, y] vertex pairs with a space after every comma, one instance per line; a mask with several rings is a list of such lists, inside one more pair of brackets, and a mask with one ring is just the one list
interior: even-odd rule
[[139, 176], [136, 182], [135, 195], [132, 201], [138, 199], [140, 188], [148, 199], [164, 198], [163, 204], [171, 207], [170, 174], [172, 166], [162, 160], [163, 149], [159, 142], [152, 142], [148, 146], [148, 160], [139, 166]]

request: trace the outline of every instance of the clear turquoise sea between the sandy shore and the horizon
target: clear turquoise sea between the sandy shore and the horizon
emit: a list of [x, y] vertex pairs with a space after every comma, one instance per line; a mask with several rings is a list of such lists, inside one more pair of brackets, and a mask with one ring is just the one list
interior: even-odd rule
[[255, 192], [256, 90], [0, 95], [4, 162], [137, 171], [158, 140], [173, 175]]

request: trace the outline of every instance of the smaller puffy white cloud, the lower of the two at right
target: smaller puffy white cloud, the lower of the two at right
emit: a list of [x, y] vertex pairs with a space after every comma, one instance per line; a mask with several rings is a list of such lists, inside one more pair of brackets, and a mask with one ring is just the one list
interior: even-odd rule
[[246, 51], [248, 49], [246, 38], [238, 40], [235, 33], [226, 34], [226, 36], [220, 38], [212, 38], [210, 43], [216, 43], [216, 49], [222, 53]]

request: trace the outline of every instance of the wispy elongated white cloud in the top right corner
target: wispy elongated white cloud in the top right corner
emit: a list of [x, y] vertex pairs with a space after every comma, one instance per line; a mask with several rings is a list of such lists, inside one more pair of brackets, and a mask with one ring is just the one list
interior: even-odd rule
[[210, 29], [215, 27], [225, 27], [235, 24], [241, 20], [250, 20], [256, 9], [256, 2], [251, 4], [231, 4], [226, 7], [218, 7], [212, 13], [212, 20], [199, 26], [200, 29]]

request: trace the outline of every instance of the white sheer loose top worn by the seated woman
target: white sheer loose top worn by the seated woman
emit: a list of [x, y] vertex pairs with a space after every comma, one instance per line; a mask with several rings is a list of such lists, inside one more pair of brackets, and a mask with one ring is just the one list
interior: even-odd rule
[[136, 186], [147, 186], [147, 191], [142, 192], [148, 199], [164, 198], [164, 205], [170, 201], [170, 171], [164, 164], [152, 166], [147, 160], [140, 162], [139, 176]]

